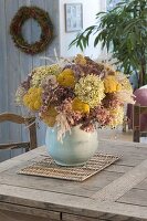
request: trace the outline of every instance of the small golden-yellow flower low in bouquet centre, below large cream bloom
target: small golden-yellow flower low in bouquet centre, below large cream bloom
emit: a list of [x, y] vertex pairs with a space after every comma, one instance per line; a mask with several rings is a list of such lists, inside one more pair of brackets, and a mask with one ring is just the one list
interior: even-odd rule
[[77, 112], [81, 112], [83, 114], [88, 114], [90, 113], [88, 104], [80, 101], [77, 97], [75, 97], [73, 99], [72, 108], [73, 108], [73, 110], [75, 110], [75, 112], [77, 110]]

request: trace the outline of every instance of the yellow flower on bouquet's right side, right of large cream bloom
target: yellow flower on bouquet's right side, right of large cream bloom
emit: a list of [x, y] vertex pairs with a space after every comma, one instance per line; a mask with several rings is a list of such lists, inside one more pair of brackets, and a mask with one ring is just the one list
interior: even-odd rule
[[107, 75], [104, 78], [105, 93], [114, 93], [122, 90], [122, 85], [116, 81], [114, 75]]

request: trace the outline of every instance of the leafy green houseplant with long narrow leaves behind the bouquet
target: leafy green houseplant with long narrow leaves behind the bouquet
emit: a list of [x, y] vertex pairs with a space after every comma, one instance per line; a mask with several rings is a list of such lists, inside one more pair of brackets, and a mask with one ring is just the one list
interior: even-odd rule
[[95, 35], [94, 46], [113, 53], [119, 69], [132, 74], [137, 72], [139, 86], [146, 84], [147, 71], [147, 0], [124, 0], [108, 12], [96, 14], [96, 25], [88, 27], [70, 46], [81, 50], [88, 46], [90, 36]]

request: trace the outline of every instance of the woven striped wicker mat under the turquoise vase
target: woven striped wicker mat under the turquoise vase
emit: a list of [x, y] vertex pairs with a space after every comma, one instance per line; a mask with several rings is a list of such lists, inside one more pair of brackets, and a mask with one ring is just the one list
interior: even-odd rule
[[51, 157], [45, 157], [44, 159], [21, 169], [18, 173], [84, 181], [119, 158], [120, 156], [95, 154], [84, 166], [63, 167], [57, 166]]

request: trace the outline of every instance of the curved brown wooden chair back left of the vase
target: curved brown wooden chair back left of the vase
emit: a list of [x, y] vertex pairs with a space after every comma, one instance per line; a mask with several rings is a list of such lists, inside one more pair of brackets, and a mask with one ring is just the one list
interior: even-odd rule
[[18, 114], [2, 113], [0, 114], [0, 123], [11, 122], [15, 124], [23, 124], [29, 129], [29, 141], [25, 143], [12, 143], [12, 144], [0, 144], [0, 149], [15, 149], [25, 148], [25, 150], [31, 150], [36, 148], [36, 127], [35, 117], [23, 117]]

